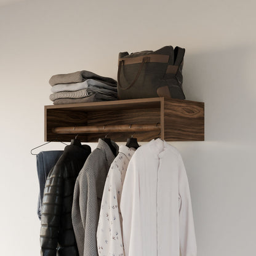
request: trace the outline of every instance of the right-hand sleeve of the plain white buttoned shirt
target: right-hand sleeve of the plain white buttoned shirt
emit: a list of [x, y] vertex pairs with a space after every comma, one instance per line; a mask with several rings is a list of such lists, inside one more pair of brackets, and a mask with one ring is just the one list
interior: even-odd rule
[[196, 256], [196, 236], [194, 233], [190, 188], [181, 156], [178, 164], [180, 252], [181, 256]]

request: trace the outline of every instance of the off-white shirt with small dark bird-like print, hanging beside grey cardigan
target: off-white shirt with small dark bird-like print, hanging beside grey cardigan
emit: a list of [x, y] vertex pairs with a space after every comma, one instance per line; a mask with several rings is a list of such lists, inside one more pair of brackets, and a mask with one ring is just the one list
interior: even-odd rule
[[108, 172], [98, 220], [98, 255], [124, 255], [120, 200], [127, 166], [134, 152], [134, 148], [120, 146]]

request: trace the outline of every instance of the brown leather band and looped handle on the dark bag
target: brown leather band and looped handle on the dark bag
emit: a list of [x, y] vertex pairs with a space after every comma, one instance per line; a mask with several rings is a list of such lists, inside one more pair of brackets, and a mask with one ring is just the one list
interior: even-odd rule
[[[135, 82], [137, 81], [138, 77], [140, 76], [140, 73], [142, 72], [144, 63], [148, 63], [148, 62], [168, 63], [168, 60], [169, 60], [169, 55], [161, 55], [161, 54], [148, 54], [146, 56], [142, 55], [142, 56], [138, 56], [135, 58], [120, 58], [119, 65], [118, 65], [118, 84], [119, 84], [119, 86], [124, 90], [127, 90], [130, 87], [132, 87], [135, 84]], [[129, 65], [129, 64], [135, 64], [135, 63], [142, 63], [140, 65], [140, 68], [138, 69], [138, 73], [136, 74], [134, 81], [132, 81], [129, 84], [129, 86], [123, 87], [121, 85], [121, 79], [120, 79], [122, 66]]]

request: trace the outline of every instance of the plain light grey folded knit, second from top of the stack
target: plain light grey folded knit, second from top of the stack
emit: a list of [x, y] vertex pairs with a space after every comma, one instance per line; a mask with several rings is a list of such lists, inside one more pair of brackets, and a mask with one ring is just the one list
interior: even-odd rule
[[104, 82], [100, 82], [95, 79], [87, 79], [84, 82], [75, 82], [71, 84], [55, 84], [55, 86], [52, 86], [50, 90], [55, 93], [55, 92], [81, 90], [91, 86], [113, 90], [114, 92], [117, 92], [118, 90], [116, 86], [115, 87], [109, 86], [108, 84], [105, 84]]

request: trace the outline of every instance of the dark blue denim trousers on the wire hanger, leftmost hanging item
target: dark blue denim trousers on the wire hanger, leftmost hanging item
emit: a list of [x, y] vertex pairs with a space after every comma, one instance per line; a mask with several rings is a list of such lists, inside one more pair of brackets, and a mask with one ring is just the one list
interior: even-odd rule
[[63, 154], [63, 150], [41, 151], [36, 155], [36, 169], [38, 170], [39, 196], [38, 196], [38, 217], [41, 219], [42, 197], [44, 186], [50, 170]]

